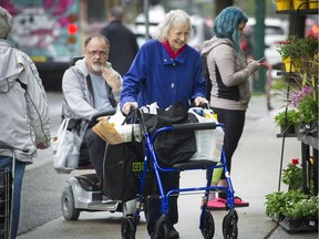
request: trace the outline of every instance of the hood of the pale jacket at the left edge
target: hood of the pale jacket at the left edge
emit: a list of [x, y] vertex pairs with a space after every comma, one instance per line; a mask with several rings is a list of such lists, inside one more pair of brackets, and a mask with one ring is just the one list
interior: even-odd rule
[[0, 40], [0, 92], [8, 92], [10, 86], [23, 70], [23, 64], [18, 54], [17, 49], [6, 41]]

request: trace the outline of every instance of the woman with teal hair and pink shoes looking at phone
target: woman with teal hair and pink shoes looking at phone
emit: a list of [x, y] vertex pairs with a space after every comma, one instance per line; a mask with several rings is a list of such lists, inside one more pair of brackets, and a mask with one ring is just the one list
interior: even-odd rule
[[[209, 80], [212, 83], [210, 107], [217, 114], [218, 121], [226, 125], [224, 148], [226, 165], [230, 173], [231, 157], [235, 153], [245, 124], [246, 110], [250, 101], [249, 76], [263, 63], [247, 63], [239, 40], [248, 21], [246, 13], [236, 7], [224, 9], [215, 19], [213, 31], [215, 35], [204, 42], [202, 55], [207, 59]], [[227, 187], [225, 174], [218, 169], [213, 175], [212, 186]], [[222, 175], [220, 175], [222, 174]], [[226, 209], [226, 194], [209, 194], [207, 208], [210, 210]], [[235, 207], [247, 207], [249, 204], [235, 197]]]

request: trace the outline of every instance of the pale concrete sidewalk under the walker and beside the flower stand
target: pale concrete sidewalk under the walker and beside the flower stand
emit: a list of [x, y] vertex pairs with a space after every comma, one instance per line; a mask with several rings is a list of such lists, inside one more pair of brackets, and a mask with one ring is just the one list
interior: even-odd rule
[[[275, 102], [281, 106], [281, 102]], [[266, 97], [255, 96], [247, 111], [246, 126], [231, 166], [231, 181], [236, 196], [248, 200], [250, 206], [237, 208], [238, 239], [317, 239], [318, 233], [288, 233], [266, 217], [265, 195], [277, 191], [282, 138], [277, 138], [274, 112], [267, 112]], [[300, 143], [286, 138], [282, 167], [291, 158], [300, 158]], [[181, 186], [203, 184], [205, 172], [187, 172], [181, 177]], [[281, 184], [280, 190], [287, 190]], [[178, 199], [179, 222], [176, 229], [183, 239], [203, 238], [198, 229], [202, 195], [186, 195]], [[222, 239], [222, 222], [225, 211], [212, 211], [215, 220], [214, 239]], [[18, 239], [120, 239], [121, 214], [81, 212], [78, 221], [65, 221], [59, 217], [35, 228]], [[148, 238], [144, 215], [137, 226], [136, 239]]]

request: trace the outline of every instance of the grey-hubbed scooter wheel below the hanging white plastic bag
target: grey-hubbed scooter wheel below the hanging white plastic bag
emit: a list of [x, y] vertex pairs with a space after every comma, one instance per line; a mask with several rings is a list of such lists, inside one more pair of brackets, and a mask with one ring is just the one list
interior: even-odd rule
[[65, 220], [78, 220], [80, 210], [74, 207], [74, 196], [72, 187], [64, 187], [61, 197], [61, 209]]

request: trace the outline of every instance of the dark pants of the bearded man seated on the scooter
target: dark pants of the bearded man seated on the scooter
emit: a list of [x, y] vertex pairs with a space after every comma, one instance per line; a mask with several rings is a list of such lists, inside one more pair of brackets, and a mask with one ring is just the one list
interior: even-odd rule
[[83, 137], [83, 144], [86, 146], [96, 175], [102, 181], [106, 142], [96, 135], [92, 128], [88, 128]]

